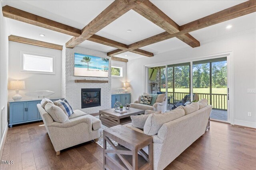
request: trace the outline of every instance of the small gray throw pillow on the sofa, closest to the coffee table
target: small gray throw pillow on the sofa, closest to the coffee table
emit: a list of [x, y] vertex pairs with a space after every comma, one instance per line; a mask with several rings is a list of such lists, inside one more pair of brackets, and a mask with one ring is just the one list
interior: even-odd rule
[[[146, 111], [148, 111], [148, 110], [146, 110]], [[146, 111], [145, 111], [145, 113], [146, 113]], [[161, 111], [151, 111], [150, 110], [150, 112], [147, 112], [147, 114], [145, 114], [145, 115], [131, 115], [130, 117], [132, 119], [132, 126], [137, 127], [139, 129], [143, 129], [145, 122], [148, 119], [148, 116], [152, 113], [159, 114], [159, 113], [161, 113]]]

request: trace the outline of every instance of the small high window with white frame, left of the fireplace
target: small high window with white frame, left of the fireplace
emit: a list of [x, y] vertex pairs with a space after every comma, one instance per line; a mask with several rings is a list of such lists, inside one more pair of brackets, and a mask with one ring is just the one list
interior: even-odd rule
[[22, 53], [21, 71], [30, 73], [55, 74], [54, 57]]

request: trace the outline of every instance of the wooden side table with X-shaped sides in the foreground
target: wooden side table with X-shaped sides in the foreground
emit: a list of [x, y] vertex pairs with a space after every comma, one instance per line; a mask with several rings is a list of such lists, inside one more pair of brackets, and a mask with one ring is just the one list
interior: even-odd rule
[[[112, 141], [119, 145], [115, 146]], [[152, 137], [122, 125], [103, 130], [104, 170], [152, 170]], [[106, 144], [112, 149], [107, 149]], [[142, 148], [148, 146], [148, 154]], [[139, 153], [139, 154], [138, 154]]]

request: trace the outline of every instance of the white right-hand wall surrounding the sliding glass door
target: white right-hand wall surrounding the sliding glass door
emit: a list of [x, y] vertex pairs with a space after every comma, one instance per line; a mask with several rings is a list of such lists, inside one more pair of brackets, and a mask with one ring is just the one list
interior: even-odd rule
[[[256, 32], [226, 37], [202, 44], [197, 48], [183, 48], [154, 57], [142, 57], [127, 63], [127, 81], [131, 84], [132, 101], [144, 91], [144, 65], [165, 65], [172, 62], [203, 58], [209, 55], [233, 51], [234, 65], [234, 123], [256, 128], [256, 94], [248, 94], [248, 88], [256, 88]], [[160, 64], [161, 63], [161, 64]], [[248, 117], [248, 112], [252, 117]]]

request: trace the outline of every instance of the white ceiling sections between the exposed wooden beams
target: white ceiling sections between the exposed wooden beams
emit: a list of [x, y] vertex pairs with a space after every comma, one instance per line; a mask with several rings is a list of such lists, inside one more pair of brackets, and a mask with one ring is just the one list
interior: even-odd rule
[[[82, 29], [91, 20], [93, 20], [100, 12], [102, 12], [113, 0], [7, 0], [4, 4], [13, 6], [15, 8], [42, 16], [72, 27]], [[168, 15], [179, 25], [183, 25], [190, 21], [197, 20], [204, 16], [213, 14], [220, 10], [224, 10], [231, 6], [240, 4], [244, 1], [241, 0], [152, 0], [160, 10]], [[64, 45], [70, 38], [70, 35], [58, 33], [45, 28], [37, 27], [20, 21], [8, 19], [10, 25], [10, 33], [21, 37], [36, 39], [49, 43], [56, 43]], [[231, 29], [226, 29], [227, 25], [232, 25]], [[127, 30], [132, 30], [130, 33]], [[198, 39], [200, 43], [214, 41], [222, 37], [233, 36], [237, 33], [244, 32], [250, 29], [256, 29], [256, 13], [248, 14], [240, 18], [225, 21], [204, 29], [193, 31], [190, 34]], [[148, 21], [146, 18], [140, 16], [133, 10], [130, 10], [117, 20], [113, 21], [97, 35], [106, 37], [120, 43], [130, 44], [142, 39], [151, 37], [164, 30], [154, 23]], [[39, 34], [43, 33], [46, 36], [40, 37]], [[115, 48], [106, 45], [94, 43], [91, 41], [84, 41], [79, 47], [94, 49], [103, 52], [109, 52]], [[177, 38], [168, 39], [141, 49], [156, 53], [163, 53], [174, 49], [189, 47]], [[125, 56], [127, 55], [127, 56]], [[134, 59], [141, 57], [134, 53], [123, 53], [117, 55], [126, 59]]]

